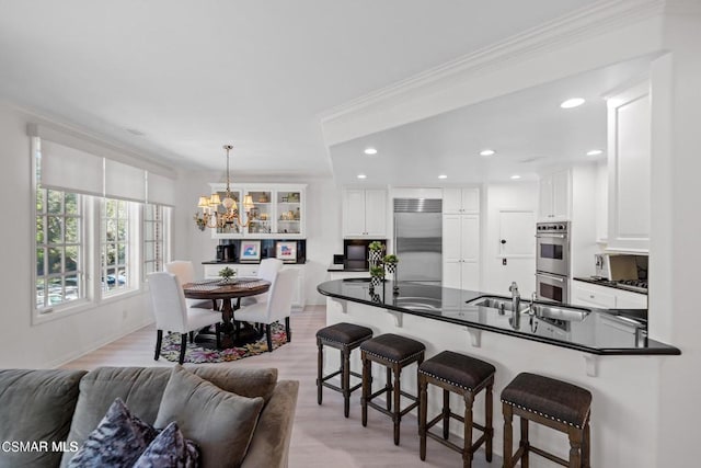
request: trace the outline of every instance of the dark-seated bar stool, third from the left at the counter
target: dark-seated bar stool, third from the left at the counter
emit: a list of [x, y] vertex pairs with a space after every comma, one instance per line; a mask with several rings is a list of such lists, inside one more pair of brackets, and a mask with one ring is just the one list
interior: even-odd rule
[[[462, 454], [462, 466], [472, 466], [472, 456], [482, 444], [485, 444], [485, 456], [492, 461], [492, 389], [494, 387], [494, 373], [496, 368], [484, 361], [466, 356], [464, 354], [444, 351], [427, 359], [418, 366], [420, 410], [418, 435], [421, 437], [421, 459], [426, 459], [426, 437], [430, 437], [448, 448]], [[427, 422], [428, 410], [428, 384], [443, 388], [443, 411], [436, 418]], [[472, 419], [472, 406], [475, 396], [485, 390], [484, 425], [476, 424]], [[450, 392], [458, 393], [464, 399], [464, 416], [450, 411]], [[464, 443], [460, 447], [448, 441], [450, 418], [464, 425]], [[429, 431], [435, 424], [443, 421], [443, 437]], [[483, 434], [472, 443], [472, 429], [478, 429]]]

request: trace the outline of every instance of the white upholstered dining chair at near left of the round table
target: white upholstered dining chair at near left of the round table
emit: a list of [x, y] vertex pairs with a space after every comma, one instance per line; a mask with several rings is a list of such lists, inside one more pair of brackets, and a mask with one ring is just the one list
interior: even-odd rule
[[150, 273], [148, 275], [151, 304], [156, 317], [156, 355], [154, 361], [161, 355], [163, 330], [174, 331], [181, 334], [180, 359], [185, 361], [187, 347], [187, 334], [195, 330], [214, 324], [217, 333], [217, 347], [219, 342], [219, 321], [221, 316], [211, 309], [188, 307], [185, 294], [177, 276], [168, 272]]

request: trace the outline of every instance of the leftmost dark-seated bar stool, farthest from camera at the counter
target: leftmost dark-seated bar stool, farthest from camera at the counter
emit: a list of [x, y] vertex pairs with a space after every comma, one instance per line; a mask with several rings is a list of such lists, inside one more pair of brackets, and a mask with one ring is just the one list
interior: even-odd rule
[[[350, 352], [358, 347], [365, 340], [372, 338], [372, 330], [367, 327], [341, 322], [322, 328], [317, 332], [317, 346], [319, 358], [317, 363], [317, 402], [321, 404], [323, 387], [343, 393], [343, 412], [346, 418], [350, 410], [350, 393], [363, 386], [363, 383], [350, 387], [350, 376], [363, 377], [358, 373], [350, 372]], [[341, 367], [338, 370], [323, 375], [324, 345], [341, 350]], [[341, 375], [341, 387], [327, 383], [330, 378]]]

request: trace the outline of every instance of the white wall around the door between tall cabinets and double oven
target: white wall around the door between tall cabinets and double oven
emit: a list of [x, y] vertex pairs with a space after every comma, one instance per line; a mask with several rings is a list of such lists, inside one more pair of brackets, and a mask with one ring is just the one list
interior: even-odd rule
[[[499, 210], [531, 210], [533, 226], [527, 236], [536, 236], [536, 215], [538, 212], [538, 183], [519, 181], [502, 184], [489, 184], [484, 192], [483, 207], [486, 215], [482, 217], [486, 225], [482, 230], [482, 289], [487, 293], [508, 295], [512, 282], [518, 284], [522, 297], [530, 297], [536, 290], [536, 256], [507, 259], [502, 264], [499, 256]], [[535, 254], [535, 251], [533, 251]]]

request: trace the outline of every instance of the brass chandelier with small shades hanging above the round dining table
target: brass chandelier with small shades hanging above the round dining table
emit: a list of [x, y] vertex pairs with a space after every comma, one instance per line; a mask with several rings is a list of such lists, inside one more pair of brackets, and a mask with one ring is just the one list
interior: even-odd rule
[[199, 197], [197, 207], [202, 208], [202, 212], [195, 213], [195, 222], [199, 230], [205, 228], [210, 229], [223, 229], [226, 227], [245, 228], [249, 226], [250, 218], [249, 213], [253, 208], [253, 198], [251, 195], [243, 197], [243, 212], [245, 213], [245, 222], [241, 219], [239, 213], [239, 205], [231, 194], [230, 178], [229, 178], [229, 151], [233, 149], [231, 145], [225, 145], [223, 149], [227, 150], [227, 191], [223, 199], [219, 197], [218, 193], [211, 195], [203, 195]]

